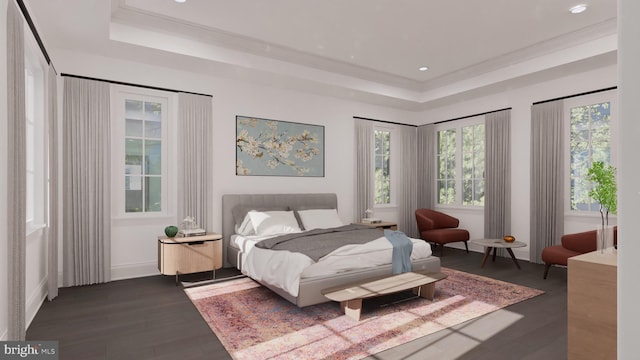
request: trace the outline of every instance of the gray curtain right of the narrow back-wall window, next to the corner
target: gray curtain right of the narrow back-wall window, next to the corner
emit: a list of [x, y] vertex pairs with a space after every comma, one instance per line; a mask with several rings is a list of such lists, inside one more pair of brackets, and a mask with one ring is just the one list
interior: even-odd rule
[[[400, 126], [400, 182], [398, 189], [398, 228], [405, 234], [418, 237], [416, 224], [417, 199], [417, 154], [416, 128]], [[392, 165], [393, 166], [393, 165]]]

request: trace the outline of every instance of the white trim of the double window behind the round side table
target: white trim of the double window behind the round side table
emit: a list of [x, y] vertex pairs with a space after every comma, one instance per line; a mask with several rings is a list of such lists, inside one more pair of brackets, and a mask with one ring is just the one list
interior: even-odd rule
[[[456, 130], [456, 202], [455, 204], [439, 204], [438, 203], [438, 186], [436, 183], [435, 190], [434, 190], [435, 191], [435, 194], [434, 194], [435, 208], [449, 209], [449, 210], [477, 210], [477, 211], [484, 210], [484, 206], [481, 206], [481, 205], [462, 205], [462, 128], [470, 125], [477, 125], [477, 124], [485, 124], [484, 115], [478, 115], [478, 116], [473, 116], [466, 119], [436, 124], [435, 138], [434, 138], [434, 141], [436, 141], [436, 144], [438, 141], [439, 131], [450, 130], [450, 129]], [[436, 157], [438, 156], [437, 150], [436, 150], [435, 156]], [[485, 163], [485, 166], [486, 166], [486, 163]], [[438, 177], [437, 176], [437, 172], [438, 172], [437, 158], [435, 159], [434, 171], [436, 172], [436, 179], [437, 179]], [[485, 185], [485, 188], [486, 188], [486, 185]]]

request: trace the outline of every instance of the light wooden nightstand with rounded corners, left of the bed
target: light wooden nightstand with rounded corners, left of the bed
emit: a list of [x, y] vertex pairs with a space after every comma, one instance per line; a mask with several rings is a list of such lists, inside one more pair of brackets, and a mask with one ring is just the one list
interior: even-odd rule
[[158, 236], [158, 270], [163, 275], [213, 271], [222, 267], [222, 235], [208, 233], [202, 236], [169, 238]]

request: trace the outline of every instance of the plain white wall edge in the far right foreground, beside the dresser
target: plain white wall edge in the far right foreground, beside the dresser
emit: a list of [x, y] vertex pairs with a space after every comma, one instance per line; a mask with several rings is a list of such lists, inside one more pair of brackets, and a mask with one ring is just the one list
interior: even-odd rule
[[638, 324], [640, 307], [638, 274], [640, 274], [640, 2], [618, 1], [619, 79], [620, 79], [620, 162], [618, 190], [618, 359], [638, 357]]

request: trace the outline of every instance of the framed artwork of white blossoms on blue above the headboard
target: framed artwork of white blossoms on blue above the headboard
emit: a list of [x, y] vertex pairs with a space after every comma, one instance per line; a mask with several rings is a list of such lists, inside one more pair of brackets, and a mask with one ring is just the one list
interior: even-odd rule
[[236, 175], [324, 176], [324, 126], [236, 116]]

